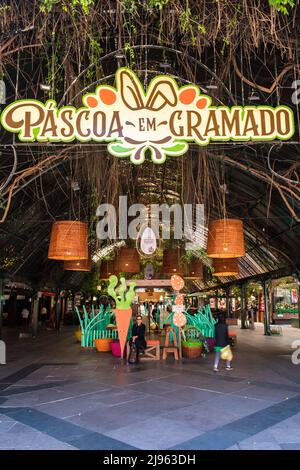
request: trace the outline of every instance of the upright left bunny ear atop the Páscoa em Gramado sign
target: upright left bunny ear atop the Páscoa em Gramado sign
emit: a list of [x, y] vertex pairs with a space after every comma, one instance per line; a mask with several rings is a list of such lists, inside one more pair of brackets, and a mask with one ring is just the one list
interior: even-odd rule
[[121, 98], [127, 108], [132, 111], [144, 108], [143, 95], [135, 75], [128, 70], [121, 70], [119, 77]]

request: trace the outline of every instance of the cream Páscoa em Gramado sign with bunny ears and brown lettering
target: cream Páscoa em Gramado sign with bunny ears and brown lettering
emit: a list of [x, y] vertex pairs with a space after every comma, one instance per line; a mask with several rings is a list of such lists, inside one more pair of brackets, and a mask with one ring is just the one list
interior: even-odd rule
[[23, 142], [107, 142], [109, 153], [141, 164], [188, 151], [188, 143], [287, 140], [295, 132], [287, 106], [211, 106], [196, 85], [178, 86], [167, 75], [153, 78], [147, 90], [127, 67], [116, 72], [116, 86], [100, 85], [82, 98], [83, 106], [57, 108], [34, 99], [8, 105], [1, 124]]

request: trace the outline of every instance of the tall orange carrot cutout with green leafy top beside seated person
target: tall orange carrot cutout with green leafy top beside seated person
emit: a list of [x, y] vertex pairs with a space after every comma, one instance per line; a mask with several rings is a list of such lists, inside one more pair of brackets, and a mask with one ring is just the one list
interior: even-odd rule
[[126, 281], [124, 277], [120, 278], [119, 287], [117, 287], [117, 276], [110, 276], [108, 281], [109, 284], [107, 288], [107, 293], [116, 302], [116, 308], [114, 309], [114, 313], [116, 316], [117, 330], [119, 334], [121, 357], [123, 357], [128, 330], [130, 327], [130, 320], [132, 317], [132, 309], [130, 305], [135, 297], [136, 283], [130, 282], [129, 289], [127, 290]]

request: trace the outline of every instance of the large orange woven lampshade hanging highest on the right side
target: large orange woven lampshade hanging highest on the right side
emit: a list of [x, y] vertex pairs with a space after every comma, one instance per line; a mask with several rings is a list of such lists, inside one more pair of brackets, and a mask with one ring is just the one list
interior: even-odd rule
[[208, 225], [207, 256], [239, 258], [245, 256], [243, 222], [237, 219], [214, 220]]

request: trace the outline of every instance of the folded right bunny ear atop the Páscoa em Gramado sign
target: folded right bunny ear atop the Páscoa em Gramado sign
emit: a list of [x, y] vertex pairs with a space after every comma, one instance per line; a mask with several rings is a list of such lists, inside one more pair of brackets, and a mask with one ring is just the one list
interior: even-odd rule
[[172, 81], [168, 79], [157, 79], [148, 93], [146, 107], [153, 111], [159, 111], [167, 104], [176, 106], [177, 94]]

